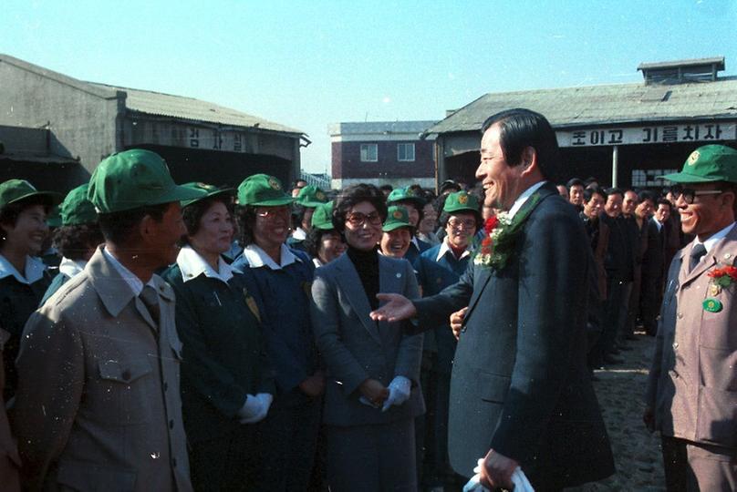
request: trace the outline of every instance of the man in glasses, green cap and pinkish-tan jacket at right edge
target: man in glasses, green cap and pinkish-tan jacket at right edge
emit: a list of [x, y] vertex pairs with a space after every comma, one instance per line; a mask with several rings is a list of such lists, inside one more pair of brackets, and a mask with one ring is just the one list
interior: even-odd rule
[[707, 145], [680, 173], [683, 232], [670, 263], [643, 415], [669, 490], [737, 489], [737, 150]]

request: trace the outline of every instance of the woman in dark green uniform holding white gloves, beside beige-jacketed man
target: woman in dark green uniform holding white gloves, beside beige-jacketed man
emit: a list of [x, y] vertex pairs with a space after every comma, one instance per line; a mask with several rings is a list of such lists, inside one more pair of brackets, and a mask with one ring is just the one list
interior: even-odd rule
[[163, 277], [176, 292], [182, 339], [182, 415], [196, 490], [257, 490], [258, 422], [275, 391], [250, 272], [223, 260], [233, 241], [233, 190], [185, 185], [207, 196], [183, 202], [187, 235]]

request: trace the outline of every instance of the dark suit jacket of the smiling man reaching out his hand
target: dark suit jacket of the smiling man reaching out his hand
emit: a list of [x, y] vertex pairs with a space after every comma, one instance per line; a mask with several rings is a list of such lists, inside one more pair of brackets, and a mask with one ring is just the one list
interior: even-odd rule
[[469, 306], [452, 369], [453, 468], [471, 477], [493, 448], [533, 486], [568, 487], [611, 475], [614, 462], [586, 370], [586, 232], [554, 186], [539, 192], [501, 271], [471, 263], [414, 303], [421, 328]]

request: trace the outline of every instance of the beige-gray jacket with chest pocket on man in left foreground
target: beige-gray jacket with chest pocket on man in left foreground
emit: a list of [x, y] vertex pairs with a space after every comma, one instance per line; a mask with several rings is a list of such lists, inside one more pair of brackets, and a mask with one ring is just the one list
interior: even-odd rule
[[174, 292], [161, 321], [95, 252], [24, 330], [15, 432], [31, 490], [192, 490]]

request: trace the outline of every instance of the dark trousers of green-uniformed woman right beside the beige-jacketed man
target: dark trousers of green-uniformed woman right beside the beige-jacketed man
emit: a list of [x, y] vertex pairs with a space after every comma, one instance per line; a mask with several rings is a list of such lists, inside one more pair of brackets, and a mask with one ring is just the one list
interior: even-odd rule
[[195, 491], [254, 490], [261, 481], [261, 424], [244, 424], [223, 436], [190, 443]]

